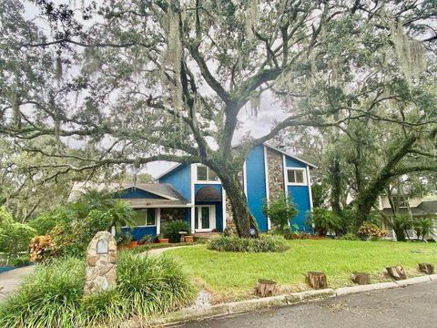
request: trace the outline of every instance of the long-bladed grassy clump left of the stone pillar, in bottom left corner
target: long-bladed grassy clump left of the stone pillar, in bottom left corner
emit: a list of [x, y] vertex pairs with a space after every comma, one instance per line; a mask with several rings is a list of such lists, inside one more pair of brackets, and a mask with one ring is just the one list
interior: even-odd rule
[[84, 263], [75, 259], [39, 265], [0, 307], [2, 327], [71, 327], [78, 323]]

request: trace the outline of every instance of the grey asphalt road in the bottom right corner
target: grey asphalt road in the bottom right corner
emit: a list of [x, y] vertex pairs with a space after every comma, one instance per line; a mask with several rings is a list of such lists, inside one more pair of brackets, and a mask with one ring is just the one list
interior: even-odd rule
[[257, 313], [184, 323], [176, 327], [437, 327], [437, 282], [346, 295]]

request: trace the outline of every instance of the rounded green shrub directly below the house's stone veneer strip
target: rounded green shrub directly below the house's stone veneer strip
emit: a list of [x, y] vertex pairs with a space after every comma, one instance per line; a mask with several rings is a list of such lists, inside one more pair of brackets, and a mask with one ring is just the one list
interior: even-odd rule
[[296, 210], [294, 203], [284, 195], [270, 202], [264, 201], [262, 211], [270, 218], [272, 226], [279, 231], [288, 227], [290, 220], [298, 215], [298, 210]]

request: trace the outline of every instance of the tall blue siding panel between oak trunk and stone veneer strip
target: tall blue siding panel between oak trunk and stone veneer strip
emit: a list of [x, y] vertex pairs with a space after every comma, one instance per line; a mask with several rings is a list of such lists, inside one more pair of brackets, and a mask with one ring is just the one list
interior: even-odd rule
[[267, 231], [267, 217], [262, 212], [263, 201], [266, 199], [266, 170], [263, 146], [256, 146], [250, 150], [248, 159], [246, 159], [246, 175], [249, 209], [258, 222], [259, 230]]

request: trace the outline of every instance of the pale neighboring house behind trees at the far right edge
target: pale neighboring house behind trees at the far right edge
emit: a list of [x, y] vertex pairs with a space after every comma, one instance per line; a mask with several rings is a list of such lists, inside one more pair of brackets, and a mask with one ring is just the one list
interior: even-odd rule
[[[409, 215], [414, 218], [430, 217], [434, 220], [434, 231], [428, 238], [437, 241], [437, 196], [430, 195], [426, 197], [410, 196], [409, 190], [404, 190], [401, 195], [398, 195], [396, 190], [391, 192], [391, 200], [396, 208], [397, 214]], [[385, 216], [391, 217], [393, 210], [388, 195], [381, 195], [380, 210]], [[384, 228], [390, 232], [391, 238], [396, 238], [394, 231], [390, 227], [384, 225]], [[408, 231], [410, 238], [417, 238], [414, 231]]]

